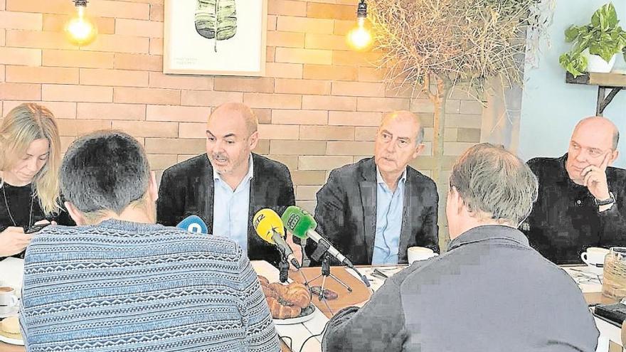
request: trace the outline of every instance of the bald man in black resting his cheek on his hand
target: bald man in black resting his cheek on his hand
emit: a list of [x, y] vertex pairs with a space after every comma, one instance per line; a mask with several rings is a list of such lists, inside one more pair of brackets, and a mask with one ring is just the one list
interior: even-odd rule
[[580, 263], [586, 247], [626, 245], [626, 170], [617, 159], [620, 133], [605, 117], [576, 125], [568, 153], [528, 164], [539, 178], [539, 199], [521, 230], [556, 264]]

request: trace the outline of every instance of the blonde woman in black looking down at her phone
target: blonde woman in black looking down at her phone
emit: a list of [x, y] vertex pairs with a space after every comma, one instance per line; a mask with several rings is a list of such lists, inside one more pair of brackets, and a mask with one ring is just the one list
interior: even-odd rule
[[[50, 110], [34, 103], [0, 123], [0, 259], [22, 255], [33, 225], [60, 220], [60, 139]], [[63, 217], [68, 219], [67, 216]]]

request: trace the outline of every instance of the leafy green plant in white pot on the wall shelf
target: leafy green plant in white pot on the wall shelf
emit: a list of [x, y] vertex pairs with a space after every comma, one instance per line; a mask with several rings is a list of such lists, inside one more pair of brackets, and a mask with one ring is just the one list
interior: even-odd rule
[[570, 26], [565, 31], [572, 50], [558, 58], [558, 62], [574, 77], [583, 72], [610, 72], [615, 55], [624, 50], [626, 58], [626, 31], [617, 23], [613, 4], [605, 4], [591, 16], [586, 26]]

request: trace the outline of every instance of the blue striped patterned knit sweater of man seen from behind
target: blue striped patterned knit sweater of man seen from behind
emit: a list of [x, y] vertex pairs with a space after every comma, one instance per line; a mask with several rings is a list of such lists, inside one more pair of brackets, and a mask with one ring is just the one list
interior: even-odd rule
[[26, 250], [26, 351], [279, 351], [248, 257], [228, 238], [106, 220]]

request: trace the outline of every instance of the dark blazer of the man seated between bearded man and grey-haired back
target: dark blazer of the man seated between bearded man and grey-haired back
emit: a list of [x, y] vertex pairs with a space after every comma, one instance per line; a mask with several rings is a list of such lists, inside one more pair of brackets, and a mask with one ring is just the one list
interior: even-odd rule
[[[376, 164], [369, 158], [334, 169], [317, 192], [317, 231], [355, 265], [371, 264], [376, 236], [376, 190]], [[439, 252], [438, 201], [435, 182], [407, 166], [398, 262], [407, 262], [406, 249], [412, 246]], [[307, 241], [309, 257], [315, 247], [311, 240]]]

